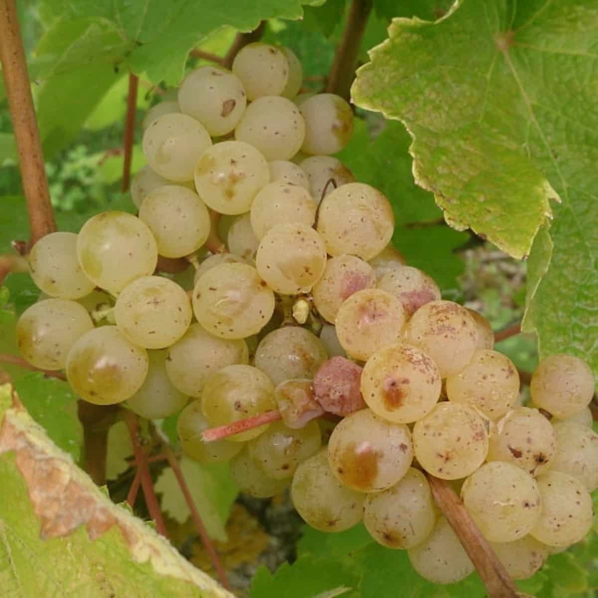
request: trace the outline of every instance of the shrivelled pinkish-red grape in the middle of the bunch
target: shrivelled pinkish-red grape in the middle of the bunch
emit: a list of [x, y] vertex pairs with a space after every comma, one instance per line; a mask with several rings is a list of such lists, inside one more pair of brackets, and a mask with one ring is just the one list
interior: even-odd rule
[[350, 359], [335, 356], [320, 365], [313, 377], [316, 400], [328, 413], [344, 417], [366, 407], [359, 390], [362, 368]]

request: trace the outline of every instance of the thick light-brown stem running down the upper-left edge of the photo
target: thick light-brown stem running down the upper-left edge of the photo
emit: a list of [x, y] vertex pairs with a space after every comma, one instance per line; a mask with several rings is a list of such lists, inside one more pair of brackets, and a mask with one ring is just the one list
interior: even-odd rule
[[0, 0], [0, 61], [19, 151], [19, 167], [31, 236], [29, 246], [56, 230], [44, 154], [35, 119], [25, 50], [19, 30], [15, 0]]

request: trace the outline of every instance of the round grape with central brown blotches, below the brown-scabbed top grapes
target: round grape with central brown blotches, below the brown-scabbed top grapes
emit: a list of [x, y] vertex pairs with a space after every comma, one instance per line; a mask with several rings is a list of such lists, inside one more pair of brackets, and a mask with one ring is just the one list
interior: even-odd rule
[[209, 208], [221, 214], [249, 212], [257, 192], [270, 182], [266, 158], [241, 141], [213, 145], [194, 166], [197, 194]]

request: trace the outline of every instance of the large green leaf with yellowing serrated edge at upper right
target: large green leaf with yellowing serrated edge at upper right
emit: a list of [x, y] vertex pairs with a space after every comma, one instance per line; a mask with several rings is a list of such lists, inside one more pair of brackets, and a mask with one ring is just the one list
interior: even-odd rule
[[434, 24], [397, 19], [353, 99], [405, 124], [416, 180], [454, 227], [514, 257], [533, 241], [524, 328], [541, 356], [573, 353], [598, 377], [596, 22], [596, 0], [462, 0]]

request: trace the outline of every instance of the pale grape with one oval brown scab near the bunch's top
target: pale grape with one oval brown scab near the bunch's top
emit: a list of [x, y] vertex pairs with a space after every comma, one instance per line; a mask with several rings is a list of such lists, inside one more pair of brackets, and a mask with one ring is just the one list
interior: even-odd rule
[[202, 66], [184, 78], [178, 102], [181, 112], [199, 120], [212, 137], [218, 137], [237, 126], [247, 97], [236, 75], [218, 66]]

